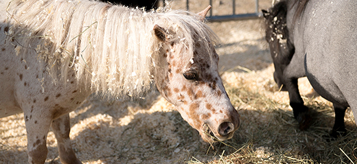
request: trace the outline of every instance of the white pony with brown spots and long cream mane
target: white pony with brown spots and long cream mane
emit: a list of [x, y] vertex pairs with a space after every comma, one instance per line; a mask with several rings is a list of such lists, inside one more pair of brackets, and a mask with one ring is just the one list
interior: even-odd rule
[[29, 162], [45, 163], [51, 127], [60, 161], [81, 163], [68, 113], [91, 93], [141, 96], [153, 80], [205, 141], [233, 137], [239, 115], [218, 73], [217, 37], [203, 23], [209, 8], [0, 1], [0, 117], [24, 113]]

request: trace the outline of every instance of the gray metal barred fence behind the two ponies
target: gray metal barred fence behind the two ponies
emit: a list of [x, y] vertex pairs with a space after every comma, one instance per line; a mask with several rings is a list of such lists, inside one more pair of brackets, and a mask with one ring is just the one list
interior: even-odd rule
[[[212, 11], [214, 10], [214, 6], [212, 5], [212, 0], [209, 0], [209, 5], [212, 6], [211, 10], [209, 10], [209, 16], [206, 17], [208, 21], [234, 21], [234, 20], [243, 20], [243, 19], [258, 19], [262, 15], [262, 12], [259, 12], [259, 1], [255, 0], [255, 12], [246, 13], [246, 14], [235, 14], [235, 0], [232, 0], [232, 13], [230, 15], [220, 15], [214, 16], [212, 15]], [[189, 10], [189, 0], [186, 0], [186, 9]]]

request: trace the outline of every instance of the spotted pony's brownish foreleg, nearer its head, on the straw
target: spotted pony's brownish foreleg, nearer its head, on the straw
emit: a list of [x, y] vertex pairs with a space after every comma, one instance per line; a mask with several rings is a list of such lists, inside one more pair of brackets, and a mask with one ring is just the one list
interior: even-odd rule
[[55, 119], [51, 127], [57, 139], [58, 154], [60, 154], [61, 163], [81, 163], [73, 152], [69, 139], [69, 131], [71, 130], [69, 114]]

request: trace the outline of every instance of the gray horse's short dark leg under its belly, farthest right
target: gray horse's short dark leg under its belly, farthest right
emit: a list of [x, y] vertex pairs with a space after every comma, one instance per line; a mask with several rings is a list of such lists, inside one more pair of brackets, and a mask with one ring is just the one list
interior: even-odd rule
[[343, 134], [346, 132], [345, 129], [345, 112], [347, 107], [341, 106], [334, 103], [334, 112], [335, 112], [335, 123], [330, 136], [337, 138], [338, 134]]

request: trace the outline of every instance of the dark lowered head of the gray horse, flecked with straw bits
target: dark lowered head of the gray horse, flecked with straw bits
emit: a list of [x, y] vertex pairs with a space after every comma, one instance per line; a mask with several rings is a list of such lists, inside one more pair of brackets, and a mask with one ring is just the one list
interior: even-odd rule
[[[266, 23], [266, 41], [269, 43], [270, 55], [275, 67], [274, 80], [278, 86], [283, 84], [284, 69], [295, 53], [295, 47], [290, 41], [286, 27], [287, 10], [286, 1], [279, 1], [268, 11], [262, 10]], [[283, 90], [285, 90], [284, 86]]]

